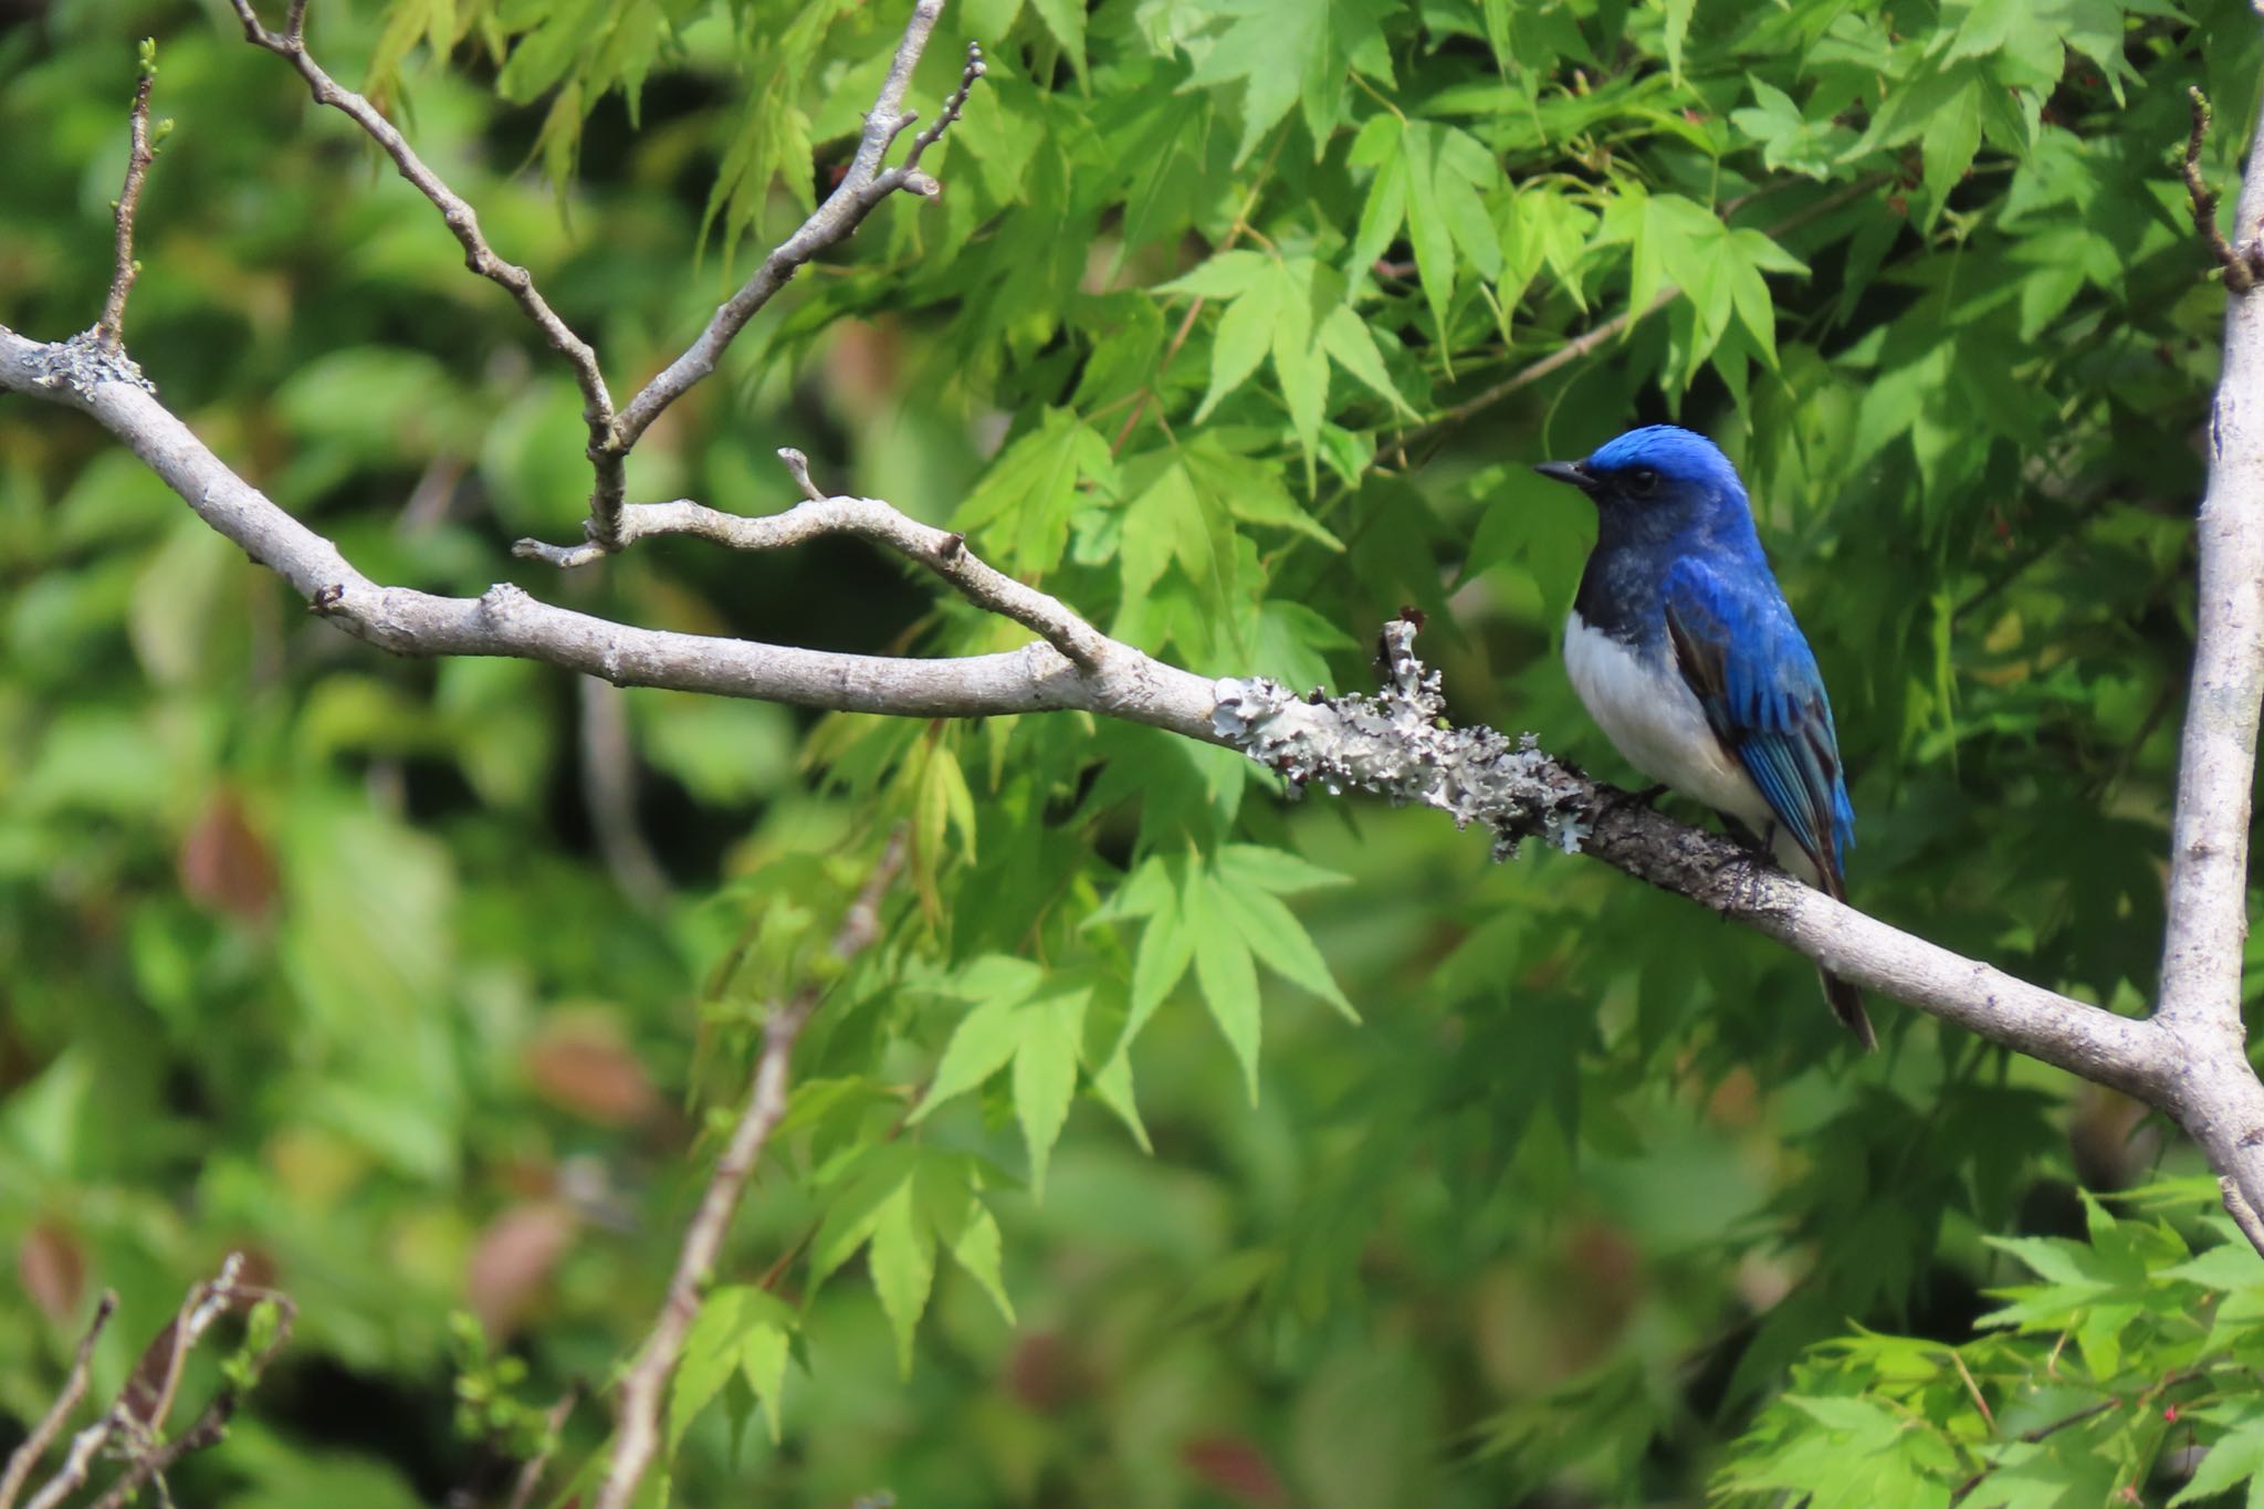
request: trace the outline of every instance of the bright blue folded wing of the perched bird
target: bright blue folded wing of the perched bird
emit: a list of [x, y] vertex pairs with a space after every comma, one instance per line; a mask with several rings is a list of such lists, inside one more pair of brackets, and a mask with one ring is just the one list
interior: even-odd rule
[[1841, 771], [1832, 701], [1800, 624], [1759, 568], [1736, 581], [1684, 557], [1666, 572], [1666, 633], [1707, 724], [1838, 889], [1854, 848], [1854, 808]]

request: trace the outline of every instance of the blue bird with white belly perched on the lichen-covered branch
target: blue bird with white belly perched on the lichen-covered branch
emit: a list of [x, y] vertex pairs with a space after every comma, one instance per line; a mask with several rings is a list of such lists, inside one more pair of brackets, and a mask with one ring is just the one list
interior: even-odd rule
[[[1730, 457], [1691, 430], [1648, 425], [1535, 471], [1596, 505], [1596, 550], [1564, 624], [1564, 670], [1589, 717], [1628, 765], [1845, 900], [1854, 808], [1832, 699]], [[1877, 1047], [1856, 989], [1823, 980], [1832, 1011]]]

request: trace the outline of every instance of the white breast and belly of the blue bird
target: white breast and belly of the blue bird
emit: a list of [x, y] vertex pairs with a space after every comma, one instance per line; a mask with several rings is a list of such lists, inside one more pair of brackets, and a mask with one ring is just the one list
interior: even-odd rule
[[1564, 670], [1587, 715], [1628, 765], [1757, 835], [1770, 833], [1768, 799], [1714, 738], [1698, 695], [1664, 652], [1646, 656], [1573, 613], [1564, 624]]

